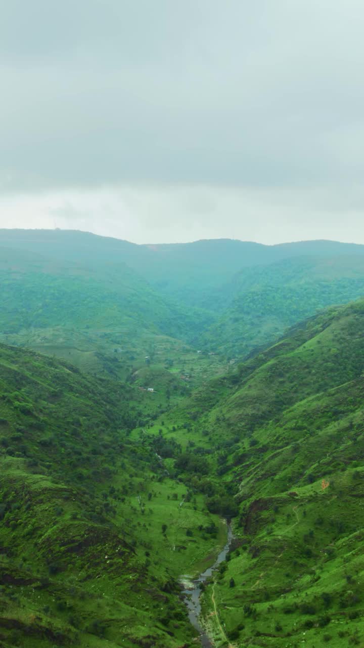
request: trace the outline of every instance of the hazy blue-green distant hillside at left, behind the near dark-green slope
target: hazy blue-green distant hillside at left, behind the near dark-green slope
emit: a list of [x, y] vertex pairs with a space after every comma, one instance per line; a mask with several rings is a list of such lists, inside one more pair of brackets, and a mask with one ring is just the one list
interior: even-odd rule
[[[194, 338], [209, 314], [168, 301], [123, 262], [58, 260], [46, 256], [47, 246], [43, 252], [0, 249], [1, 341], [121, 380], [146, 356], [163, 368], [181, 356], [182, 364], [196, 364], [196, 351], [181, 340]], [[179, 383], [177, 393], [184, 391]]]

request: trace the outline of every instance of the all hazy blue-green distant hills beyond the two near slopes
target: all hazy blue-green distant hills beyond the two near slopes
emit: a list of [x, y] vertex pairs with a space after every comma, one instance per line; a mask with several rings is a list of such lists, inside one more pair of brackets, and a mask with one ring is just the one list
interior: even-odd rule
[[179, 346], [157, 358], [157, 369], [171, 360], [183, 368], [183, 343], [197, 386], [216, 366], [200, 371], [199, 362], [196, 372], [201, 359], [190, 362], [192, 349], [215, 353], [225, 371], [292, 324], [363, 294], [364, 246], [332, 241], [138, 246], [85, 232], [3, 229], [0, 246], [3, 341], [122, 379], [162, 337]]

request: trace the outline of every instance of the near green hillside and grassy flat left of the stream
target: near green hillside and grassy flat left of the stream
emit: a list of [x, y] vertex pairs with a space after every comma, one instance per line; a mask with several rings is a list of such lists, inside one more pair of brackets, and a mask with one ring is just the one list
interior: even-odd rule
[[0, 367], [1, 645], [188, 645], [176, 579], [225, 535], [130, 441], [136, 391], [4, 345]]

